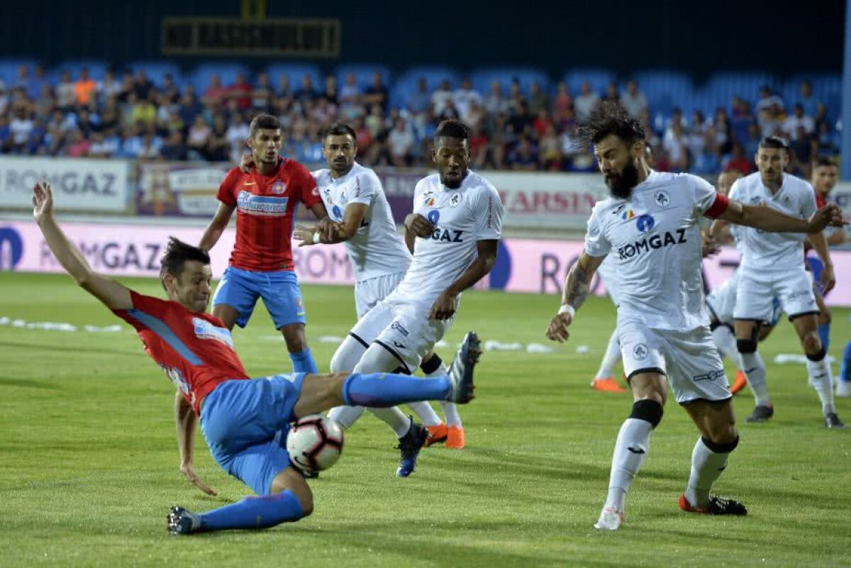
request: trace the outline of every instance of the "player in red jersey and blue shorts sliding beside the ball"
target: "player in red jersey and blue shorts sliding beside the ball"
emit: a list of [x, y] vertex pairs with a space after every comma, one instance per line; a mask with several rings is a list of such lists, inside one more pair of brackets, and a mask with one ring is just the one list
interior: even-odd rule
[[[290, 465], [289, 423], [334, 406], [393, 406], [414, 400], [472, 399], [478, 339], [468, 333], [447, 375], [410, 378], [391, 373], [292, 373], [248, 379], [233, 349], [231, 332], [206, 313], [212, 273], [208, 253], [172, 238], [160, 279], [168, 301], [135, 293], [94, 272], [71, 246], [53, 216], [50, 185], [33, 189], [33, 216], [50, 250], [74, 281], [139, 333], [145, 350], [174, 383], [181, 471], [192, 471], [195, 416], [216, 463], [261, 497], [195, 514], [174, 507], [174, 535], [226, 529], [258, 529], [299, 520], [313, 510], [310, 488]], [[197, 480], [190, 480], [210, 491]]]

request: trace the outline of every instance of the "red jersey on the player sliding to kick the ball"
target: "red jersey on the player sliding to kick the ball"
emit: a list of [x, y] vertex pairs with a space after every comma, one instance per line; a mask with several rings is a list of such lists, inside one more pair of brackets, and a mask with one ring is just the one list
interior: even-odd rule
[[132, 310], [113, 310], [136, 328], [151, 359], [180, 389], [196, 413], [219, 383], [248, 378], [233, 350], [231, 332], [218, 318], [186, 310], [177, 302], [130, 291]]

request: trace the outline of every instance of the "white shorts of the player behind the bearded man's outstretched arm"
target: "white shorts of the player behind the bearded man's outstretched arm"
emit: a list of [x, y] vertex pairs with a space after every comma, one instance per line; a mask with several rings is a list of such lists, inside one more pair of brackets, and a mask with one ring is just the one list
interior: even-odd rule
[[780, 300], [780, 308], [790, 318], [819, 313], [813, 293], [813, 277], [801, 264], [801, 270], [791, 274], [760, 275], [757, 279], [743, 273], [736, 291], [735, 319], [770, 321], [775, 296]]

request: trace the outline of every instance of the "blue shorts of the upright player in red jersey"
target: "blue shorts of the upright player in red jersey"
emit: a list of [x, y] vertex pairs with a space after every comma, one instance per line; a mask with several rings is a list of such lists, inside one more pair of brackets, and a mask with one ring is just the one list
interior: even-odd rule
[[237, 326], [245, 327], [257, 298], [263, 298], [275, 329], [306, 322], [299, 279], [292, 270], [253, 272], [228, 266], [216, 288], [213, 305], [226, 304], [237, 310]]

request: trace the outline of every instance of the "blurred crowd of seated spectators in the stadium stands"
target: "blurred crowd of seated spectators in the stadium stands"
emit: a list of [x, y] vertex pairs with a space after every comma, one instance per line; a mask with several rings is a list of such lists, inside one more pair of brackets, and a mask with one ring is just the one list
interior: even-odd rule
[[430, 165], [437, 122], [457, 117], [473, 130], [473, 168], [587, 172], [596, 164], [575, 132], [597, 99], [619, 100], [640, 119], [662, 171], [750, 173], [751, 156], [768, 134], [789, 139], [793, 171], [803, 176], [816, 156], [839, 152], [836, 117], [827, 116], [808, 82], [796, 101], [764, 87], [734, 97], [713, 116], [688, 108], [660, 116], [635, 81], [622, 90], [609, 83], [605, 93], [595, 93], [588, 82], [572, 93], [561, 82], [550, 93], [536, 82], [524, 91], [514, 80], [507, 89], [494, 82], [480, 93], [469, 80], [429, 89], [423, 78], [400, 108], [390, 105], [378, 72], [366, 88], [353, 75], [342, 84], [328, 75], [321, 85], [310, 76], [296, 85], [266, 73], [238, 75], [229, 85], [213, 76], [198, 93], [169, 75], [155, 84], [144, 71], [106, 71], [95, 81], [81, 68], [77, 77], [62, 71], [51, 82], [43, 67], [22, 65], [14, 82], [0, 86], [0, 153], [236, 162], [247, 151], [251, 117], [271, 112], [285, 129], [285, 151], [300, 162], [320, 162], [319, 133], [342, 121], [355, 128], [364, 165]]

